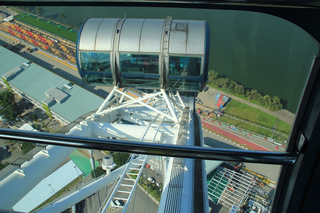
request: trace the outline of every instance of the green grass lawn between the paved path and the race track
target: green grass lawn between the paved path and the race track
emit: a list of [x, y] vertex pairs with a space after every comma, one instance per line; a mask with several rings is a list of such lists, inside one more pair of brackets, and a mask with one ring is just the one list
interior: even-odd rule
[[[287, 136], [289, 136], [289, 133], [291, 130], [291, 126], [289, 124], [279, 120], [275, 116], [268, 114], [268, 113], [265, 113], [265, 112], [263, 112], [259, 109], [256, 109], [252, 106], [248, 106], [248, 105], [241, 103], [239, 101], [236, 101], [234, 99], [232, 99], [228, 103], [224, 112], [227, 115], [239, 118], [243, 121], [247, 121], [250, 123], [241, 122], [240, 120], [235, 120], [234, 118], [230, 118], [228, 116], [222, 116], [222, 117], [218, 118], [221, 122], [227, 122], [229, 124], [234, 123], [234, 125], [239, 128], [251, 130], [253, 132], [256, 132], [258, 134], [265, 135], [268, 137], [272, 136], [273, 131], [271, 131], [271, 129], [273, 129], [274, 126], [276, 126], [277, 132], [280, 132], [283, 135], [287, 135]], [[256, 124], [256, 125], [254, 125], [254, 124]], [[270, 130], [266, 130], [266, 129], [261, 128], [259, 126], [266, 127]], [[274, 134], [273, 137], [275, 137], [275, 136], [277, 136], [277, 135]], [[280, 139], [280, 138], [278, 138], [278, 139]]]

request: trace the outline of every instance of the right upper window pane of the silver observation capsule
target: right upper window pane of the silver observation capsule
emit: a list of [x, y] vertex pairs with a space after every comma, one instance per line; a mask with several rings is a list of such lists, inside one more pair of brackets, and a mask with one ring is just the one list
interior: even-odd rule
[[201, 57], [169, 56], [168, 75], [199, 76], [201, 74]]

